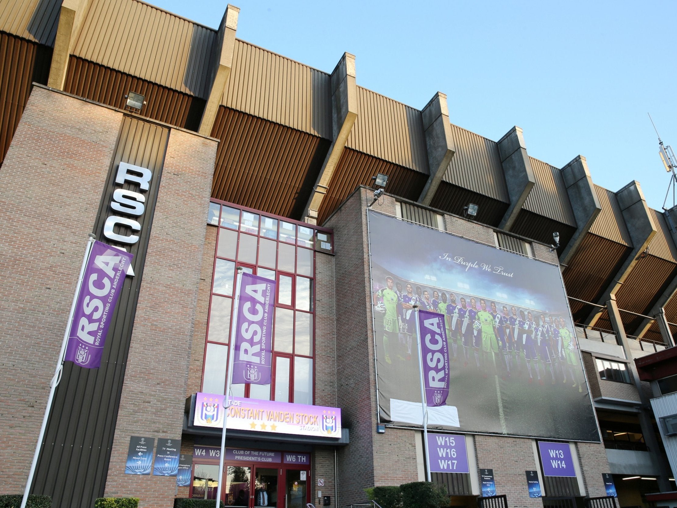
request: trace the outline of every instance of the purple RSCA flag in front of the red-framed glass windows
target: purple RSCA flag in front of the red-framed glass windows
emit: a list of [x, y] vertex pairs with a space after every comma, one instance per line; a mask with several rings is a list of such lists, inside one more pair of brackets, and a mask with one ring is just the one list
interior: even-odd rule
[[235, 331], [233, 383], [269, 385], [275, 281], [252, 274], [242, 274], [238, 288], [240, 304]]

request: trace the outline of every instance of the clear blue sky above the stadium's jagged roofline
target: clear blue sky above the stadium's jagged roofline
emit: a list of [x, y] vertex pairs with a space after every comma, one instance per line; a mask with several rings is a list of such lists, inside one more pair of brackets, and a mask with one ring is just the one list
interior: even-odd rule
[[[442, 91], [452, 123], [492, 140], [518, 125], [529, 155], [582, 154], [596, 184], [636, 179], [663, 205], [647, 112], [677, 151], [677, 1], [232, 1], [240, 39], [326, 72], [348, 51], [360, 86], [419, 109]], [[212, 27], [226, 5], [151, 3]]]

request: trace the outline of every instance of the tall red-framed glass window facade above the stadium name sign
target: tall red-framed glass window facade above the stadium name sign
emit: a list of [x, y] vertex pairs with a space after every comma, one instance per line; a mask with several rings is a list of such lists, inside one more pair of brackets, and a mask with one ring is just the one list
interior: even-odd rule
[[233, 205], [211, 203], [218, 226], [202, 391], [223, 394], [236, 267], [277, 282], [271, 385], [233, 385], [233, 394], [313, 404], [315, 250], [331, 252], [332, 234]]

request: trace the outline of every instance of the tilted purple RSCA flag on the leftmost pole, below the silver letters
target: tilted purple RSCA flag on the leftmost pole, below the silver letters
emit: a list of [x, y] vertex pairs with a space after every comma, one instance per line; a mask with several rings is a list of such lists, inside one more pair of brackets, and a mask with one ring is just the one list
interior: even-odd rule
[[101, 365], [108, 326], [133, 257], [105, 243], [94, 242], [68, 329], [66, 362], [85, 368]]

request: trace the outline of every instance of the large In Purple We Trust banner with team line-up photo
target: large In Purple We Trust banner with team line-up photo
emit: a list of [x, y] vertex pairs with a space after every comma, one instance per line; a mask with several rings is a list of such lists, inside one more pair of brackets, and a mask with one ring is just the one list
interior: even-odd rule
[[444, 316], [429, 429], [600, 440], [558, 266], [368, 211], [380, 421], [422, 425], [416, 314]]

